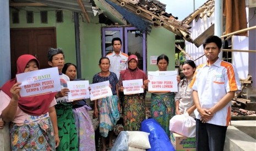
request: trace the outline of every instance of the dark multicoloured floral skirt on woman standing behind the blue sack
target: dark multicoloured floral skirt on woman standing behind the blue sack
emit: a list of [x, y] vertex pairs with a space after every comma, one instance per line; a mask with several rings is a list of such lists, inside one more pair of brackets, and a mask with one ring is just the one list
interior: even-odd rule
[[154, 118], [170, 136], [170, 119], [175, 115], [175, 94], [167, 93], [162, 95], [151, 94], [151, 117]]

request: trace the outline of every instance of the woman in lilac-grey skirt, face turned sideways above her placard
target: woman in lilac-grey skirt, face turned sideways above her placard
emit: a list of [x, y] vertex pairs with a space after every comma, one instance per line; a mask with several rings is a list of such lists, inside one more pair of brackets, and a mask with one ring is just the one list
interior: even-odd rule
[[[66, 74], [70, 81], [79, 80], [77, 77], [77, 66], [73, 63], [65, 63], [62, 73]], [[75, 119], [75, 125], [77, 126], [78, 135], [78, 149], [94, 151], [95, 140], [94, 140], [94, 127], [92, 126], [89, 111], [91, 107], [88, 106], [86, 101], [78, 100], [73, 102], [73, 115]]]

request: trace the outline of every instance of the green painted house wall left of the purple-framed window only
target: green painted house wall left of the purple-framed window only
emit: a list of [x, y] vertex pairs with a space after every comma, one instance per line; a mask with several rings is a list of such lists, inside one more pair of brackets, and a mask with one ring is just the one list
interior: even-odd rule
[[[56, 27], [57, 47], [62, 48], [65, 55], [65, 62], [72, 62], [77, 64], [75, 54], [75, 31], [74, 22], [72, 21], [72, 11], [63, 10], [63, 22], [57, 23], [55, 18], [55, 10], [48, 11], [48, 24], [41, 24], [40, 10], [32, 9], [26, 10], [34, 11], [34, 23], [26, 23], [26, 11], [19, 11], [19, 24], [12, 24], [12, 11], [10, 9], [10, 28], [31, 28], [31, 27]], [[81, 51], [81, 75], [82, 78], [90, 80], [94, 74], [100, 71], [98, 62], [101, 57], [101, 26], [102, 24], [95, 24], [99, 22], [99, 18], [90, 18], [91, 23], [84, 22], [85, 19], [79, 15], [79, 29], [80, 29], [80, 51]], [[45, 54], [47, 55], [47, 54]]]

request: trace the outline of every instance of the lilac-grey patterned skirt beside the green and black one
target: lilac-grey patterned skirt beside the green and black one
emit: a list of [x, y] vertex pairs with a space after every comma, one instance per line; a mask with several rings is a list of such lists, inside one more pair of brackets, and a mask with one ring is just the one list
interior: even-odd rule
[[78, 148], [81, 151], [95, 151], [95, 134], [92, 126], [88, 105], [79, 108], [73, 108], [75, 125], [77, 126]]

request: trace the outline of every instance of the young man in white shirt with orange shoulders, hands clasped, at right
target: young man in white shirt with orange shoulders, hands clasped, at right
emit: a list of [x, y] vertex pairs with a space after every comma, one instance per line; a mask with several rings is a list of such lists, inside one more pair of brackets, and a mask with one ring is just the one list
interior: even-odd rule
[[217, 36], [204, 40], [207, 62], [199, 65], [194, 73], [190, 88], [193, 89], [197, 109], [197, 150], [223, 150], [226, 131], [231, 120], [231, 100], [235, 91], [241, 90], [236, 68], [219, 59], [222, 41]]

